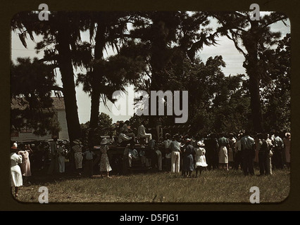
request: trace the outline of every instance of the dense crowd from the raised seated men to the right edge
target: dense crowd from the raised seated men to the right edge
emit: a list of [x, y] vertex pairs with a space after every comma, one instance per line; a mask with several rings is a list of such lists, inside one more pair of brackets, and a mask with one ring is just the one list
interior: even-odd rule
[[[161, 171], [164, 165], [166, 170], [172, 173], [181, 171], [184, 176], [191, 176], [193, 171], [198, 176], [204, 169], [230, 168], [242, 169], [244, 175], [254, 175], [254, 167], [258, 167], [261, 176], [272, 174], [272, 169], [290, 167], [289, 132], [283, 135], [278, 131], [250, 134], [242, 130], [237, 134], [211, 133], [203, 137], [167, 133], [164, 139], [160, 139], [156, 130], [146, 132], [144, 124], [139, 125], [135, 135], [126, 129], [128, 124], [129, 121], [120, 123], [115, 143], [129, 146], [124, 153], [129, 167], [132, 160], [141, 160], [145, 166]], [[145, 150], [138, 153], [135, 143]]]

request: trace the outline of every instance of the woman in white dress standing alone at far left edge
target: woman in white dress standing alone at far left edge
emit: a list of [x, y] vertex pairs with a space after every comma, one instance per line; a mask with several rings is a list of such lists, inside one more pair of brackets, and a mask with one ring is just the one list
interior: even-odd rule
[[17, 143], [13, 143], [11, 147], [11, 189], [15, 187], [15, 197], [18, 197], [19, 187], [23, 186], [22, 172], [18, 165], [22, 163], [22, 155], [18, 155]]

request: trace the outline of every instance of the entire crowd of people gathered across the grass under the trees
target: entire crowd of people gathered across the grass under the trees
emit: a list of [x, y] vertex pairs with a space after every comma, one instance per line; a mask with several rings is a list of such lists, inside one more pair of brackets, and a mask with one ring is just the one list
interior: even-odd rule
[[[102, 139], [98, 153], [95, 153], [94, 146], [84, 146], [79, 139], [74, 140], [67, 150], [63, 141], [54, 136], [50, 142], [51, 161], [47, 174], [63, 174], [65, 158], [73, 154], [73, 157], [69, 155], [69, 159], [77, 174], [83, 172], [85, 176], [92, 177], [95, 162], [99, 162], [101, 177], [111, 178], [108, 150], [115, 146], [124, 148], [123, 168], [130, 168], [132, 162], [139, 160], [143, 167], [174, 174], [181, 172], [184, 177], [191, 177], [193, 172], [197, 177], [204, 170], [211, 169], [240, 169], [245, 176], [254, 175], [255, 167], [259, 170], [257, 175], [263, 176], [272, 174], [273, 169], [290, 167], [290, 133], [282, 136], [277, 131], [270, 134], [239, 131], [237, 134], [211, 133], [204, 137], [166, 133], [161, 139], [156, 130], [147, 132], [144, 124], [139, 125], [136, 134], [128, 127], [128, 121], [122, 123], [117, 136]], [[20, 149], [17, 143], [12, 143], [11, 187], [15, 188], [15, 196], [18, 196], [18, 187], [23, 186], [23, 180], [32, 175], [31, 153], [29, 145]]]

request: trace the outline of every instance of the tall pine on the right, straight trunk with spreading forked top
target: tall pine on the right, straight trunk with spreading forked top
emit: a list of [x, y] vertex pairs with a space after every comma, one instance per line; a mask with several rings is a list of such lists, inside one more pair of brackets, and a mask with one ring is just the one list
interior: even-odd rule
[[244, 68], [249, 76], [248, 89], [250, 94], [252, 129], [263, 131], [263, 115], [261, 107], [260, 82], [270, 79], [262, 60], [266, 51], [270, 51], [280, 39], [280, 32], [270, 30], [270, 25], [282, 21], [285, 23], [287, 15], [271, 12], [263, 15], [259, 20], [251, 20], [249, 13], [217, 12], [212, 13], [221, 27], [220, 34], [231, 39], [237, 50], [244, 55]]

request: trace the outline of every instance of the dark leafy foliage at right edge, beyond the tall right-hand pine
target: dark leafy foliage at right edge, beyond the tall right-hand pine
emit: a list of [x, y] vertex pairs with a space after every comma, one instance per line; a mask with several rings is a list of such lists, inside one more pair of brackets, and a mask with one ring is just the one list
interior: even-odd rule
[[264, 127], [290, 131], [291, 127], [291, 35], [287, 34], [276, 49], [263, 56], [270, 82], [263, 83]]

